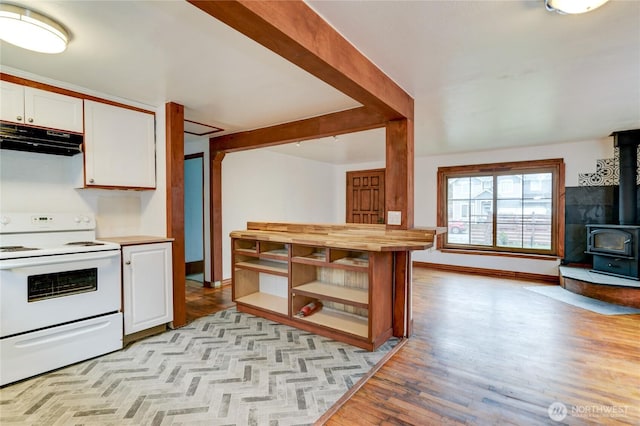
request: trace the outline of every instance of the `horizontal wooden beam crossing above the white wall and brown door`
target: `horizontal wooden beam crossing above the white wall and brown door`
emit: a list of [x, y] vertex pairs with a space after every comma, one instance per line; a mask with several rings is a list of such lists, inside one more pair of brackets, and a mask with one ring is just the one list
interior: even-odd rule
[[210, 152], [234, 152], [342, 135], [385, 126], [384, 118], [360, 107], [261, 129], [210, 138]]

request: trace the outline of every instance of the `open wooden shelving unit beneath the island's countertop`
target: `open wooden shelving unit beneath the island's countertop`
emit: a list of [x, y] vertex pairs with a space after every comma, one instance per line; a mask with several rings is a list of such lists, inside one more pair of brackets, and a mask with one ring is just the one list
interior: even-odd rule
[[[232, 238], [232, 247], [233, 300], [239, 311], [368, 350], [391, 337], [390, 252], [246, 238]], [[284, 279], [278, 284], [273, 277]], [[296, 316], [310, 302], [321, 303], [321, 310]]]

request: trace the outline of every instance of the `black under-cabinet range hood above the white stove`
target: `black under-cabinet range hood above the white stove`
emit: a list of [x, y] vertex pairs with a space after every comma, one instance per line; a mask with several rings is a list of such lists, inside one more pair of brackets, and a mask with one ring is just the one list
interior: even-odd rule
[[83, 135], [0, 123], [0, 149], [71, 156], [82, 152]]

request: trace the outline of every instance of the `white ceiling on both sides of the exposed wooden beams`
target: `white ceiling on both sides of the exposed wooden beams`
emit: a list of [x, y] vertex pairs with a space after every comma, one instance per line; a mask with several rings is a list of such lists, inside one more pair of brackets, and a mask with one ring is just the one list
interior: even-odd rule
[[[174, 101], [225, 133], [359, 105], [186, 2], [15, 3], [60, 21], [72, 41], [60, 55], [2, 42], [4, 72], [154, 107]], [[548, 12], [542, 0], [309, 4], [414, 97], [416, 155], [640, 128], [640, 1], [583, 15]], [[270, 149], [379, 161], [384, 132]]]

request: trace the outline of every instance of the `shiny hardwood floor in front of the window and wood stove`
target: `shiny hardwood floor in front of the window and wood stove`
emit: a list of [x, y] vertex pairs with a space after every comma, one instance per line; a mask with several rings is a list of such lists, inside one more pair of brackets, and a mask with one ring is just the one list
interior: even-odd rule
[[640, 315], [575, 308], [525, 281], [424, 268], [413, 281], [414, 336], [328, 425], [640, 424]]

